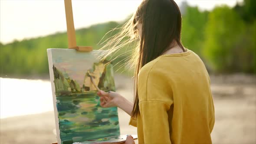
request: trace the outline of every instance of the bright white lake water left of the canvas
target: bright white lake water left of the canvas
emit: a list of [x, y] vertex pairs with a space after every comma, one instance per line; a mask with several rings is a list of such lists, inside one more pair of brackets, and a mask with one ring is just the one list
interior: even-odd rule
[[51, 83], [0, 78], [0, 118], [53, 111]]

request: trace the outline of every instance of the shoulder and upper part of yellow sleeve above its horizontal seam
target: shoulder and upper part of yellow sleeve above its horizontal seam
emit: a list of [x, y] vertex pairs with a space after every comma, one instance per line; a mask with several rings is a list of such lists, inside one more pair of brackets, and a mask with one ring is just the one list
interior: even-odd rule
[[164, 59], [158, 57], [141, 68], [137, 87], [140, 102], [161, 101], [163, 104], [171, 104], [169, 78], [163, 70], [163, 63]]

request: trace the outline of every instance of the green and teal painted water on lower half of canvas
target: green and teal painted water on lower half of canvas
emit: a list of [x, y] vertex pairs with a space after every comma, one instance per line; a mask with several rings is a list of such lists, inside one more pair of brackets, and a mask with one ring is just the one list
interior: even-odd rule
[[117, 108], [102, 108], [96, 92], [56, 97], [63, 144], [119, 135]]

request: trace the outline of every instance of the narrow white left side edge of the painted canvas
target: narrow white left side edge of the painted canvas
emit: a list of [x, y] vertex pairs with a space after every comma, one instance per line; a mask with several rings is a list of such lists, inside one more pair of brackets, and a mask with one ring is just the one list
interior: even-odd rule
[[55, 85], [54, 85], [54, 75], [53, 75], [53, 56], [51, 49], [47, 49], [48, 55], [48, 63], [49, 63], [49, 73], [50, 73], [50, 81], [52, 85], [52, 92], [53, 92], [53, 108], [54, 108], [54, 117], [55, 117], [55, 125], [56, 125], [56, 137], [58, 144], [61, 144], [60, 140], [60, 131], [59, 131], [59, 118], [58, 118], [58, 110], [56, 106], [56, 94], [55, 94]]

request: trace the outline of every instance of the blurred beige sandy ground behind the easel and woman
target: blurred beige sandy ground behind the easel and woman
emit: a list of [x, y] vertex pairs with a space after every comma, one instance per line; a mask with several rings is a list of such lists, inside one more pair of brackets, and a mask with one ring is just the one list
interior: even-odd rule
[[[256, 144], [256, 76], [211, 75], [215, 105], [213, 144]], [[116, 76], [117, 92], [133, 101], [131, 78]], [[121, 134], [137, 134], [129, 115], [118, 109]], [[53, 111], [0, 119], [0, 144], [51, 144], [56, 141]], [[138, 143], [138, 142], [136, 142]]]

